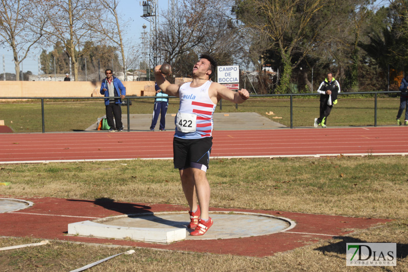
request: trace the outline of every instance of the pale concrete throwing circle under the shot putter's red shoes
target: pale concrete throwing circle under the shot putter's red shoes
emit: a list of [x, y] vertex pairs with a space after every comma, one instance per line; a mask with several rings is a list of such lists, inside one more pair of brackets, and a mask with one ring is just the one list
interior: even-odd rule
[[147, 214], [132, 214], [97, 219], [100, 224], [151, 229], [186, 229], [186, 239], [230, 239], [268, 235], [292, 229], [296, 224], [284, 217], [269, 214], [248, 212], [212, 211], [210, 217], [214, 224], [203, 236], [191, 236], [187, 229], [190, 216], [186, 212], [158, 212]]

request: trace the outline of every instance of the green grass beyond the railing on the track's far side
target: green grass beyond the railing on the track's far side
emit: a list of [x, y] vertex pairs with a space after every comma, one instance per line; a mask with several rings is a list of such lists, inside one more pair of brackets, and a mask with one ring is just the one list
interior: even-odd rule
[[[39, 100], [24, 102], [0, 103], [0, 119], [15, 132], [42, 132], [41, 103]], [[130, 106], [130, 114], [152, 113], [152, 98], [138, 98]], [[377, 125], [395, 125], [399, 108], [399, 98], [378, 98]], [[179, 100], [170, 100], [168, 113], [176, 113]], [[268, 112], [275, 115], [267, 115]], [[252, 97], [238, 109], [235, 104], [222, 101], [222, 110], [217, 106], [216, 112], [257, 112], [274, 121], [290, 127], [290, 100], [276, 97]], [[122, 114], [127, 108], [122, 107]], [[103, 101], [45, 101], [44, 121], [46, 132], [83, 131], [98, 117], [105, 115]], [[293, 99], [293, 126], [311, 127], [313, 120], [319, 117], [319, 100], [312, 98]], [[282, 117], [282, 119], [273, 119]], [[327, 126], [374, 126], [374, 98], [339, 98], [327, 118]], [[132, 129], [132, 128], [131, 128]]]

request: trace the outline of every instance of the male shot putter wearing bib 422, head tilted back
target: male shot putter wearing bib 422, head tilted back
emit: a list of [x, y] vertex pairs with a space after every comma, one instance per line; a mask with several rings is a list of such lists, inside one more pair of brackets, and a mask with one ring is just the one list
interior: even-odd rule
[[[155, 67], [156, 83], [172, 96], [180, 97], [179, 112], [175, 117], [173, 138], [174, 168], [179, 168], [184, 195], [190, 206], [190, 235], [205, 234], [213, 225], [209, 216], [210, 184], [206, 172], [210, 161], [213, 114], [221, 98], [241, 104], [249, 98], [245, 89], [234, 92], [212, 82], [217, 62], [203, 54], [194, 64], [193, 81], [180, 85], [170, 84], [160, 68]], [[198, 201], [198, 205], [197, 205]]]

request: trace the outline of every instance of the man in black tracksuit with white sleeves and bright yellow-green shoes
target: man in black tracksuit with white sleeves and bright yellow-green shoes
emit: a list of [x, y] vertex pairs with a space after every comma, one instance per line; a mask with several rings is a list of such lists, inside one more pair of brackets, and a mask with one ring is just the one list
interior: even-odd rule
[[333, 78], [333, 73], [327, 73], [327, 78], [320, 84], [317, 92], [320, 93], [320, 116], [315, 118], [314, 127], [326, 128], [327, 117], [333, 105], [337, 104], [337, 94], [340, 92], [340, 84]]

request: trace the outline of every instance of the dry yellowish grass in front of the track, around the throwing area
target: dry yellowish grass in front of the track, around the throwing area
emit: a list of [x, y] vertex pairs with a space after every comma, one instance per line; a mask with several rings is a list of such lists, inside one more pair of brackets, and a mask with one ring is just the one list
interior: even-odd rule
[[[89, 271], [408, 271], [405, 156], [212, 160], [211, 206], [394, 219], [265, 258], [136, 249]], [[185, 205], [172, 161], [2, 165], [0, 195]], [[1, 227], [1, 225], [0, 225]], [[0, 238], [0, 247], [38, 242]], [[397, 243], [396, 267], [348, 267], [347, 242]], [[68, 271], [127, 248], [52, 241], [2, 252], [1, 271]]]

